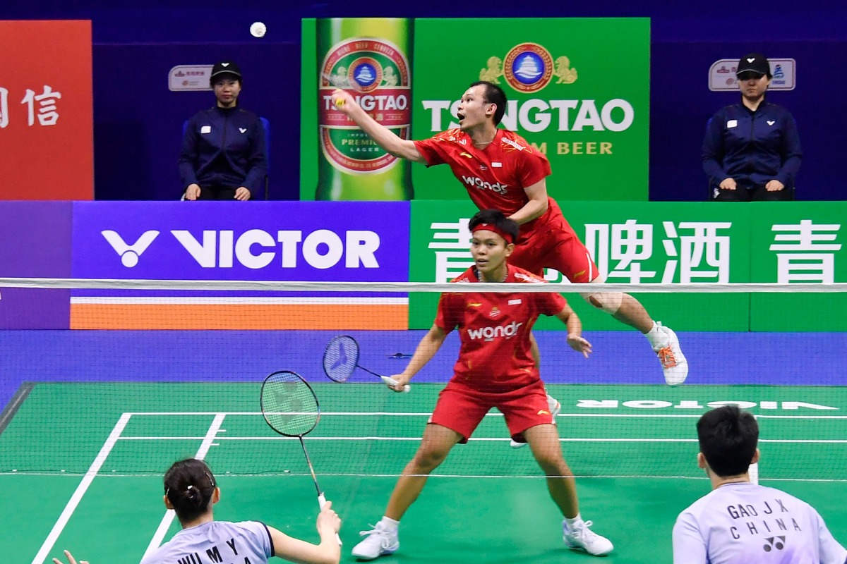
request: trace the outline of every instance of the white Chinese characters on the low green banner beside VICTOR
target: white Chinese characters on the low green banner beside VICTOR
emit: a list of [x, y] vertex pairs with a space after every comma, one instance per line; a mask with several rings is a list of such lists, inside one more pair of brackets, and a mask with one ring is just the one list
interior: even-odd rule
[[[624, 283], [728, 283], [733, 222], [586, 223], [585, 246], [606, 282]], [[661, 227], [661, 244], [654, 230]], [[450, 282], [473, 265], [468, 218], [457, 222], [432, 222], [429, 249], [435, 252], [435, 282]], [[772, 282], [835, 282], [835, 251], [841, 225], [800, 220], [773, 224], [769, 250], [777, 261], [765, 273]], [[548, 271], [551, 282], [562, 276]], [[746, 281], [745, 281], [746, 282]]]

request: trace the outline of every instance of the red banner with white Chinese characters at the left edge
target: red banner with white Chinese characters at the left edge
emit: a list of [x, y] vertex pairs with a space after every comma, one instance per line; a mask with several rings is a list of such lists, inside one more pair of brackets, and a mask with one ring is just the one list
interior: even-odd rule
[[0, 200], [91, 200], [91, 22], [0, 21], [0, 50]]

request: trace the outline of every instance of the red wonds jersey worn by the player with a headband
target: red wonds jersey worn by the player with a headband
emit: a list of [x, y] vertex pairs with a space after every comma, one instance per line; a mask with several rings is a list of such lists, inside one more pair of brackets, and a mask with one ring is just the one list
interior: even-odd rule
[[[472, 266], [452, 282], [479, 282], [476, 268]], [[512, 265], [503, 282], [545, 283]], [[557, 293], [441, 294], [435, 325], [447, 332], [458, 327], [462, 341], [453, 381], [488, 391], [491, 384], [513, 388], [538, 381], [529, 332], [539, 315], [556, 315], [566, 304]]]

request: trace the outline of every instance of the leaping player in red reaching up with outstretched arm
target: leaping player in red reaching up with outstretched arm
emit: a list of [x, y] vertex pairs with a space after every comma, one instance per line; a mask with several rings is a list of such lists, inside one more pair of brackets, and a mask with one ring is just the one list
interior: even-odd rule
[[[543, 276], [545, 268], [562, 272], [571, 282], [603, 282], [588, 249], [562, 211], [547, 195], [551, 174], [547, 157], [518, 134], [498, 128], [506, 112], [506, 93], [490, 82], [474, 82], [457, 110], [459, 128], [429, 140], [397, 136], [372, 118], [344, 90], [332, 95], [334, 107], [352, 119], [391, 155], [428, 167], [448, 164], [480, 210], [497, 209], [520, 224], [510, 262]], [[688, 376], [688, 361], [676, 334], [655, 322], [643, 305], [626, 293], [581, 294], [595, 308], [641, 331], [658, 355], [665, 381], [676, 386]]]

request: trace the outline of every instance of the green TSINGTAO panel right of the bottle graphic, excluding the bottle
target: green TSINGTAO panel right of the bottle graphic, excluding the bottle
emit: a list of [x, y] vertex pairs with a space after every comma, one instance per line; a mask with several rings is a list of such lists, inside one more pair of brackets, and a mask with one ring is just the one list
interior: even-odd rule
[[[446, 37], [473, 38], [456, 43]], [[474, 80], [509, 99], [502, 125], [544, 152], [556, 200], [647, 200], [649, 19], [416, 19], [412, 139], [457, 128]], [[412, 167], [415, 198], [462, 200], [448, 167]]]

